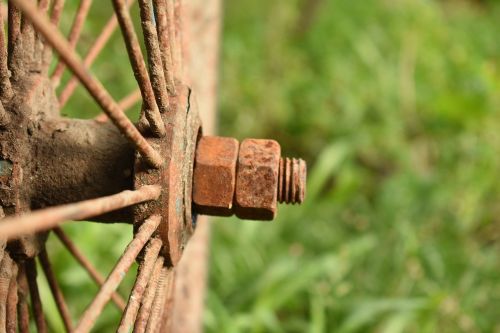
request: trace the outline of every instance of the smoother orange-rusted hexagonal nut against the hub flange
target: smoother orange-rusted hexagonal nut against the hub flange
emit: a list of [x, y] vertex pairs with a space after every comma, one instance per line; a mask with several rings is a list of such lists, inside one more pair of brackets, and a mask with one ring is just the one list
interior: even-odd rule
[[238, 141], [204, 136], [198, 142], [193, 171], [193, 203], [205, 215], [233, 214]]

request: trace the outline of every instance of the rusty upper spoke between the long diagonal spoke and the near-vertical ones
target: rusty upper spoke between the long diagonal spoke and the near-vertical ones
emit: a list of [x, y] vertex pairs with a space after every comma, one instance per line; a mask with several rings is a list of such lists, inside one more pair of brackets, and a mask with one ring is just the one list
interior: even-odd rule
[[127, 47], [128, 57], [134, 72], [135, 79], [141, 89], [142, 99], [144, 100], [144, 113], [151, 126], [151, 130], [157, 136], [164, 136], [166, 133], [165, 125], [161, 119], [158, 107], [161, 104], [156, 103], [155, 94], [151, 81], [149, 80], [146, 63], [142, 56], [139, 39], [134, 30], [134, 24], [130, 18], [125, 0], [113, 0], [116, 17], [123, 34], [125, 46]]

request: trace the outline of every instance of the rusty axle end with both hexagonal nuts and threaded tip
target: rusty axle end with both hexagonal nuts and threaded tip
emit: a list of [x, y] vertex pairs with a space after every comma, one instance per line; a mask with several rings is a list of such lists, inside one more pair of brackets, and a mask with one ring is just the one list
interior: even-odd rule
[[302, 203], [306, 163], [281, 158], [274, 140], [203, 137], [196, 151], [193, 202], [200, 214], [272, 220], [277, 203]]

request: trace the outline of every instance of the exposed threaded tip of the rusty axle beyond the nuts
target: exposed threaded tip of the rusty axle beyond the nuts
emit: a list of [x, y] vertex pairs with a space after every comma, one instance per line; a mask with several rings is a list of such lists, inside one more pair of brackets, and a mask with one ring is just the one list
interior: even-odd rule
[[301, 204], [306, 195], [306, 175], [304, 160], [282, 157], [278, 175], [278, 202]]

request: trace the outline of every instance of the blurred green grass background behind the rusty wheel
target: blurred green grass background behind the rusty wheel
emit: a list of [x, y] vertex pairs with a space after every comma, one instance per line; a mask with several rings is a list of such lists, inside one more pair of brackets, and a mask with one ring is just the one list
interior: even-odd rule
[[[116, 99], [135, 87], [119, 34], [92, 69]], [[500, 332], [500, 3], [227, 0], [219, 91], [219, 132], [278, 140], [309, 183], [272, 223], [214, 223], [207, 332]], [[98, 109], [79, 89], [64, 112]], [[65, 229], [103, 272], [131, 235]], [[49, 247], [81, 313], [96, 288]]]

